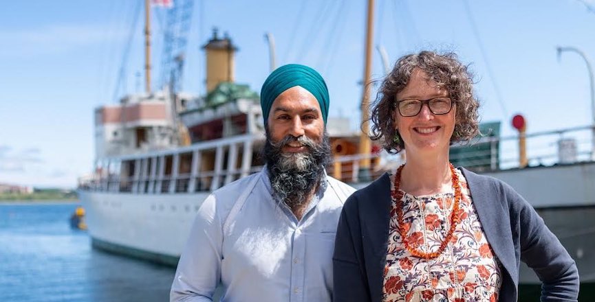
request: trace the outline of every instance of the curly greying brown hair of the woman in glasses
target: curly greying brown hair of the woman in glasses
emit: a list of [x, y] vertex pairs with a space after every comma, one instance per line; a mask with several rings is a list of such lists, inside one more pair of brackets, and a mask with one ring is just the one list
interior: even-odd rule
[[[425, 71], [431, 80], [444, 87], [451, 100], [457, 104], [451, 143], [468, 141], [475, 137], [479, 133], [479, 102], [473, 95], [473, 74], [468, 66], [459, 62], [454, 53], [421, 51], [419, 54], [402, 56], [382, 80], [369, 119], [372, 124], [370, 139], [381, 140], [382, 147], [389, 153], [398, 153], [405, 148], [398, 130], [395, 129], [392, 113], [396, 108], [397, 93], [407, 86], [411, 73], [416, 68]], [[397, 135], [398, 140], [395, 139]]]

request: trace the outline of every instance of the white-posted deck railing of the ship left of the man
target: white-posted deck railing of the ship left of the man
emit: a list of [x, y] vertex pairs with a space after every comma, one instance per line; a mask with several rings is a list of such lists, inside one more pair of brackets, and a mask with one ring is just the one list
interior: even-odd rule
[[251, 167], [253, 146], [261, 135], [239, 135], [175, 150], [155, 150], [96, 161], [96, 173], [81, 179], [85, 190], [131, 194], [213, 191], [257, 172]]

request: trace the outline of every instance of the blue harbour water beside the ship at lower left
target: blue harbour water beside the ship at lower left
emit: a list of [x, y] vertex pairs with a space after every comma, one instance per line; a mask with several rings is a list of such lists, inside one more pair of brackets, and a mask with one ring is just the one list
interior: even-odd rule
[[91, 248], [72, 202], [0, 202], [0, 301], [169, 301], [175, 268]]

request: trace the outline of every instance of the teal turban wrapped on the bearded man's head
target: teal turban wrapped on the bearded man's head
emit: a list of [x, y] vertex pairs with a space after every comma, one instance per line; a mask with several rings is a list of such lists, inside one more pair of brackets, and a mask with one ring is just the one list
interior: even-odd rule
[[321, 112], [325, 124], [327, 124], [327, 115], [329, 113], [329, 90], [323, 77], [314, 69], [299, 65], [284, 65], [275, 69], [264, 81], [260, 91], [260, 106], [262, 107], [262, 116], [264, 124], [268, 124], [268, 113], [272, 103], [277, 97], [294, 86], [301, 86], [310, 91], [318, 104], [321, 106]]

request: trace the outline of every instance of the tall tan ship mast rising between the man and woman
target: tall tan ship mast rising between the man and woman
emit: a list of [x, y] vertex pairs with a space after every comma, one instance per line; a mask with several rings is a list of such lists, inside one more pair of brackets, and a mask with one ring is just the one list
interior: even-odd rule
[[369, 95], [370, 95], [370, 74], [371, 74], [371, 60], [372, 60], [372, 38], [374, 33], [374, 0], [368, 0], [368, 14], [367, 14], [367, 31], [366, 31], [366, 49], [365, 49], [365, 66], [363, 79], [363, 97], [362, 97], [362, 132], [360, 134], [359, 153], [360, 159], [359, 178], [360, 180], [369, 179], [370, 168], [370, 150], [371, 142], [369, 135]]

